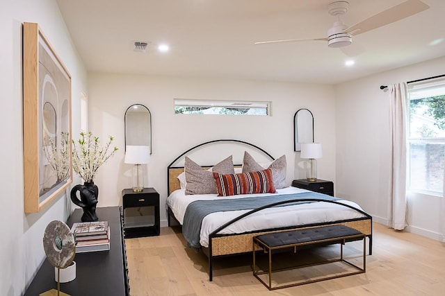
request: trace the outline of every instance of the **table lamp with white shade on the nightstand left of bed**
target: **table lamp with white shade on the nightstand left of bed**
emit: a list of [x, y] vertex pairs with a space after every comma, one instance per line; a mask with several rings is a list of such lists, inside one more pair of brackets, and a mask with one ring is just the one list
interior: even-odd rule
[[150, 146], [127, 146], [125, 149], [124, 163], [134, 164], [131, 168], [131, 180], [134, 192], [144, 189], [144, 169], [141, 164], [148, 164], [150, 159]]

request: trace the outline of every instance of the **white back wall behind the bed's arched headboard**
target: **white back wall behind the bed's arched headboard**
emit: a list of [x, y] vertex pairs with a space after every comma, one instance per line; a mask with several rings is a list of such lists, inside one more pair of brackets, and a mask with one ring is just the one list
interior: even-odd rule
[[[198, 143], [213, 139], [248, 141], [275, 158], [286, 155], [289, 184], [294, 178], [303, 178], [304, 175], [298, 175], [301, 172], [294, 172], [300, 153], [293, 152], [293, 115], [303, 107], [314, 114], [315, 139], [323, 143], [318, 177], [334, 180], [335, 119], [331, 86], [90, 73], [88, 89], [89, 129], [102, 141], [113, 135], [115, 145], [120, 148], [99, 168], [95, 180], [100, 191], [99, 207], [122, 204], [122, 189], [131, 188], [130, 165], [123, 163], [124, 112], [133, 103], [145, 105], [152, 114], [148, 185], [161, 195], [162, 225], [166, 225], [166, 168], [179, 154]], [[174, 114], [173, 98], [272, 101], [272, 116]]]

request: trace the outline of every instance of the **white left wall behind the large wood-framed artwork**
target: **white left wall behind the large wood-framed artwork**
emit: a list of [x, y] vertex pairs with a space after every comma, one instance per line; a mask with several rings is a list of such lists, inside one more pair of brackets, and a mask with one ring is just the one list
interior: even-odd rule
[[[72, 111], [79, 114], [79, 94], [86, 71], [73, 49], [56, 1], [1, 1], [0, 116], [1, 227], [0, 295], [22, 295], [43, 262], [42, 236], [51, 220], [66, 220], [70, 202], [60, 196], [37, 214], [24, 214], [22, 153], [22, 22], [35, 22], [72, 75]], [[85, 89], [86, 90], [86, 89]], [[73, 116], [73, 127], [79, 125]], [[77, 128], [78, 130], [79, 128]], [[74, 129], [75, 130], [75, 129]], [[68, 207], [67, 207], [68, 206]]]

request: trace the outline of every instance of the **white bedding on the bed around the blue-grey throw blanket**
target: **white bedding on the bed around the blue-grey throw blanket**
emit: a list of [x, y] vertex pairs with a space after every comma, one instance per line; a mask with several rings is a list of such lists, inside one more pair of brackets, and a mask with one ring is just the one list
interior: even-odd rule
[[[307, 192], [305, 189], [298, 189], [296, 187], [286, 187], [284, 189], [277, 189], [275, 194], [291, 194]], [[229, 198], [255, 198], [256, 196], [273, 195], [272, 193], [249, 194], [249, 195], [232, 195], [227, 197], [220, 197], [216, 194], [204, 195], [186, 195], [184, 189], [174, 191], [168, 198], [167, 204], [172, 209], [173, 214], [179, 221], [183, 223], [184, 214], [189, 203], [195, 200], [215, 200], [215, 199], [229, 199]], [[339, 200], [343, 204], [349, 204], [357, 209], [362, 209], [355, 202], [348, 200]], [[296, 210], [298, 209], [298, 214]], [[208, 247], [209, 234], [215, 229], [227, 223], [229, 220], [240, 216], [241, 214], [250, 211], [219, 211], [204, 217], [202, 220], [202, 227], [200, 232], [200, 244], [203, 247]], [[287, 207], [274, 207], [264, 209], [250, 216], [247, 216], [236, 223], [229, 225], [221, 234], [237, 234], [249, 232], [259, 229], [286, 227], [293, 225], [305, 225], [313, 223], [327, 223], [336, 220], [347, 220], [353, 218], [362, 218], [363, 214], [348, 207], [342, 207], [339, 204], [332, 204], [330, 202], [312, 202], [305, 204], [297, 204]]]

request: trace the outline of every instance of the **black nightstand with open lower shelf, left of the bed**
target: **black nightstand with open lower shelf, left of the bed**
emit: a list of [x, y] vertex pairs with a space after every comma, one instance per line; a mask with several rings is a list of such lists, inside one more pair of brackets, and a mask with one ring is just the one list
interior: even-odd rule
[[[147, 214], [149, 210], [147, 207], [154, 208], [154, 215]], [[154, 188], [144, 188], [140, 192], [134, 192], [133, 189], [122, 190], [122, 208], [125, 238], [159, 236], [161, 227], [159, 193]], [[151, 220], [152, 216], [154, 223]]]

